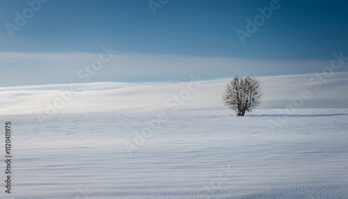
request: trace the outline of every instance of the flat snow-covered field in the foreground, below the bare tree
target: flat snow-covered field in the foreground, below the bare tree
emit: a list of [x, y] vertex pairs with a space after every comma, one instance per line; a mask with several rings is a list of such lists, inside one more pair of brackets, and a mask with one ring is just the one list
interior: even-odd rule
[[3, 128], [13, 122], [13, 193], [1, 186], [0, 198], [348, 197], [348, 109], [157, 117], [0, 116]]

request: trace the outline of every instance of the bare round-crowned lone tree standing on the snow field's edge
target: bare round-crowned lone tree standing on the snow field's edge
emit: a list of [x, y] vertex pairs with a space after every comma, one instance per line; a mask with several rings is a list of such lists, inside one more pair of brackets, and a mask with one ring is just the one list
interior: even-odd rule
[[262, 91], [260, 81], [256, 77], [234, 77], [223, 93], [225, 106], [244, 116], [245, 111], [251, 111], [261, 103]]

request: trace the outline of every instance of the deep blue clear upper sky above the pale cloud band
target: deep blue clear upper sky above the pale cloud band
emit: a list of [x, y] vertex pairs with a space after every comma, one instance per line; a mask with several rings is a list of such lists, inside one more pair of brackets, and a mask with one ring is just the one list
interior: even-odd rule
[[147, 0], [49, 0], [10, 38], [4, 24], [26, 1], [0, 1], [0, 51], [122, 52], [330, 59], [348, 51], [348, 1], [279, 1], [270, 19], [241, 44], [235, 31], [269, 1], [171, 0], [152, 14]]

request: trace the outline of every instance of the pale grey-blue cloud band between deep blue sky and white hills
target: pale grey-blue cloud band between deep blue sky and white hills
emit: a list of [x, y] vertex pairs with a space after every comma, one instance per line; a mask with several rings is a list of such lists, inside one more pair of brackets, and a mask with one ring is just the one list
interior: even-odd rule
[[[116, 48], [116, 47], [115, 47]], [[78, 71], [99, 54], [0, 52], [0, 86], [81, 83]], [[189, 75], [217, 79], [235, 75], [257, 76], [321, 72], [330, 61], [276, 61], [221, 56], [118, 53], [92, 81], [188, 81]], [[347, 71], [342, 67], [340, 71]]]

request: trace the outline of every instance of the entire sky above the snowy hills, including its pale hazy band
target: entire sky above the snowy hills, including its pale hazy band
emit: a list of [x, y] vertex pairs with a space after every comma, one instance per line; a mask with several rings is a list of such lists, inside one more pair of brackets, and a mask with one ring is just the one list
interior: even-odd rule
[[[72, 82], [177, 83], [196, 74], [202, 81], [247, 74], [270, 77], [265, 82], [285, 75], [293, 83], [296, 75], [322, 73], [333, 53], [348, 56], [348, 1], [279, 0], [244, 43], [236, 31], [247, 32], [247, 19], [254, 22], [259, 8], [275, 0], [151, 0], [167, 2], [155, 15], [148, 0], [42, 1], [47, 0], [0, 1], [0, 87], [5, 90]], [[31, 9], [27, 2], [40, 2], [40, 8], [23, 26], [17, 24], [11, 36], [8, 26], [16, 25], [17, 13], [23, 16]], [[105, 47], [117, 53], [84, 81], [86, 71], [81, 70]], [[340, 97], [347, 93], [342, 85], [347, 83], [348, 61], [334, 72], [341, 73], [329, 81], [340, 88], [335, 89], [336, 101], [323, 94], [314, 107], [328, 107], [319, 105], [325, 102], [348, 107], [347, 97]], [[284, 103], [277, 106], [286, 104], [287, 97], [280, 98]]]

